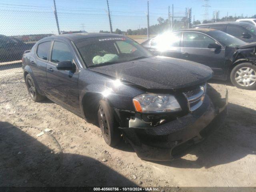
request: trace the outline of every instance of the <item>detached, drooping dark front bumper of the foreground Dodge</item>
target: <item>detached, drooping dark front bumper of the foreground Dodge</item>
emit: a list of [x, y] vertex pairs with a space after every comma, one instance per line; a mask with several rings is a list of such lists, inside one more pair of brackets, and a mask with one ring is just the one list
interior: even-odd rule
[[184, 148], [200, 142], [224, 122], [228, 91], [224, 96], [208, 92], [200, 108], [181, 118], [151, 128], [120, 128], [141, 159], [169, 161]]

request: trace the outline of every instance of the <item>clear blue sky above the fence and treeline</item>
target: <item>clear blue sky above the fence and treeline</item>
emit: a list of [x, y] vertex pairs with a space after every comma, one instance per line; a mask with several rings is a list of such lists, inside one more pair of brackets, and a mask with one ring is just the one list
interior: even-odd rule
[[[204, 4], [209, 4], [208, 18], [220, 11], [220, 18], [227, 15], [252, 16], [256, 14], [256, 0], [149, 0], [150, 25], [157, 18], [168, 18], [168, 6], [174, 16], [185, 16], [185, 9], [192, 8], [192, 18], [204, 20]], [[113, 30], [147, 27], [147, 0], [109, 0]], [[110, 30], [106, 0], [56, 0], [60, 30]], [[176, 18], [177, 20], [180, 18]], [[0, 34], [22, 35], [56, 34], [53, 0], [0, 0]]]

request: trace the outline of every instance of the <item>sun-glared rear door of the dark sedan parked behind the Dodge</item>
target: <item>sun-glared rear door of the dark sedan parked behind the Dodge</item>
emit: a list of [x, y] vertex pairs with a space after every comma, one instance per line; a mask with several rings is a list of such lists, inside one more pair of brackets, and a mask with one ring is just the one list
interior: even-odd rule
[[181, 32], [160, 35], [151, 41], [151, 48], [157, 50], [158, 55], [181, 58]]

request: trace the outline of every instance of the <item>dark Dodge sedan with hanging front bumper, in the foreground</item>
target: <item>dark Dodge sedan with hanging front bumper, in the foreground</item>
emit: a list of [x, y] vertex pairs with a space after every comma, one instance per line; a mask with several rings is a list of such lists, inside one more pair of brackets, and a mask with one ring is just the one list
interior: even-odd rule
[[152, 56], [117, 34], [44, 38], [24, 54], [22, 66], [32, 100], [46, 96], [99, 124], [110, 146], [122, 135], [143, 159], [170, 160], [226, 116], [227, 92], [208, 86], [209, 67]]

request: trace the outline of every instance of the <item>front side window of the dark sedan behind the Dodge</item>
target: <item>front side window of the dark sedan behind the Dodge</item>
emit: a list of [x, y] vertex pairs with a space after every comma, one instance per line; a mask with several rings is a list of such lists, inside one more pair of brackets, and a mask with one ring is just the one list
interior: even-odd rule
[[183, 47], [208, 48], [209, 44], [215, 44], [212, 38], [195, 32], [184, 32]]

